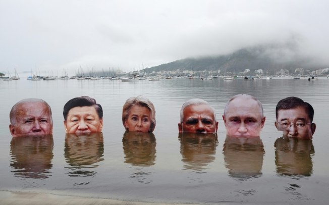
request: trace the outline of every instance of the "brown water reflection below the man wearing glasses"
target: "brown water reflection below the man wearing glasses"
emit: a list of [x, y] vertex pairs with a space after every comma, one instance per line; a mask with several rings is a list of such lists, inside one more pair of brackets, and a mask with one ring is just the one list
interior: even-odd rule
[[311, 139], [278, 138], [274, 144], [277, 173], [310, 176], [314, 147]]

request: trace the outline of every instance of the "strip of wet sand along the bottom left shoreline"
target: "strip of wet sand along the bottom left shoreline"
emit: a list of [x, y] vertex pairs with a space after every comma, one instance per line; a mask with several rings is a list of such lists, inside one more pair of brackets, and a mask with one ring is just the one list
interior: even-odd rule
[[[0, 191], [0, 204], [2, 205], [102, 205], [102, 204], [148, 204], [148, 205], [170, 205], [170, 204], [182, 204], [185, 203], [152, 203], [152, 202], [140, 202], [140, 201], [123, 201], [107, 198], [90, 198], [68, 195], [57, 195], [51, 193], [37, 193], [37, 192], [14, 192], [14, 191]], [[193, 205], [196, 203], [189, 203]], [[187, 204], [186, 204], [187, 205]]]

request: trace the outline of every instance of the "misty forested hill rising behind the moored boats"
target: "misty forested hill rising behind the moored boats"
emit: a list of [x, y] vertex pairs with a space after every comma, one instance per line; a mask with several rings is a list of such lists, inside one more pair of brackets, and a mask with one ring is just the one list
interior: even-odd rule
[[287, 50], [281, 46], [257, 46], [252, 48], [240, 49], [229, 55], [214, 57], [185, 58], [174, 62], [161, 64], [151, 68], [143, 69], [146, 73], [153, 71], [177, 71], [177, 69], [204, 71], [220, 70], [221, 73], [239, 73], [245, 69], [251, 71], [263, 69], [268, 74], [281, 69], [287, 69], [289, 72], [295, 72], [296, 68], [315, 70], [323, 68], [321, 63], [314, 63], [305, 57], [300, 57], [294, 53], [294, 50]]

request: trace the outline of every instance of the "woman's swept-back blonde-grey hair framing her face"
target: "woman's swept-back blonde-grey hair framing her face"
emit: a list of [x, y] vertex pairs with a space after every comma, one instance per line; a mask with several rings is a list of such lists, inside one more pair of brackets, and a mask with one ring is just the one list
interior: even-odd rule
[[149, 132], [153, 132], [155, 125], [156, 125], [156, 121], [155, 121], [155, 109], [153, 106], [153, 103], [146, 97], [142, 96], [142, 95], [138, 95], [136, 97], [129, 97], [126, 102], [125, 105], [122, 108], [122, 123], [125, 126], [125, 122], [128, 119], [128, 116], [130, 114], [130, 110], [133, 106], [141, 106], [141, 107], [145, 107], [147, 108], [150, 113], [150, 120], [151, 120], [151, 127]]

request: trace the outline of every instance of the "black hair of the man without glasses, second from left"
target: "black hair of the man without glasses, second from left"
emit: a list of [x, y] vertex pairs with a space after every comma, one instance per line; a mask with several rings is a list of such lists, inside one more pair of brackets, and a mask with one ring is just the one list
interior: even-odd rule
[[68, 114], [72, 108], [93, 106], [96, 109], [99, 119], [103, 118], [103, 109], [96, 103], [96, 100], [89, 96], [81, 96], [70, 99], [64, 106], [63, 116], [64, 120], [68, 118]]

